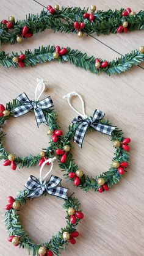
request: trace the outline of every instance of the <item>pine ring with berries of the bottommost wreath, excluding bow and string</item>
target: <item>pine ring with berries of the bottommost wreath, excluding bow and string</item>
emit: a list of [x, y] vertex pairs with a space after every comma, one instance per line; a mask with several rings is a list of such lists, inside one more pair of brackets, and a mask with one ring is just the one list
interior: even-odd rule
[[[47, 193], [44, 191], [42, 196], [46, 196], [46, 194]], [[32, 200], [29, 198], [28, 189], [19, 191], [18, 196], [15, 199], [12, 196], [8, 197], [9, 204], [5, 206], [4, 222], [5, 227], [9, 232], [9, 242], [14, 246], [26, 248], [29, 254], [30, 251], [32, 251], [33, 256], [43, 256], [46, 253], [48, 256], [59, 255], [60, 251], [65, 249], [69, 243], [76, 243], [75, 238], [79, 236], [79, 233], [76, 231], [76, 226], [84, 217], [78, 199], [73, 196], [68, 197], [67, 200], [63, 199], [63, 208], [66, 210], [65, 219], [67, 219], [67, 225], [57, 232], [56, 235], [53, 235], [50, 240], [41, 244], [35, 244], [32, 241], [29, 235], [24, 231], [20, 222], [20, 208], [28, 199]]]

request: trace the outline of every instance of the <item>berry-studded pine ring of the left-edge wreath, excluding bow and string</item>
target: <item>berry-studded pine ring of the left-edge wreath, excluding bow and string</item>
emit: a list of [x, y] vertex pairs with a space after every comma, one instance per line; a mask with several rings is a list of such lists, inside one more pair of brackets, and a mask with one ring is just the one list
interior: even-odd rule
[[[39, 101], [37, 101], [38, 103]], [[4, 138], [6, 134], [4, 134], [4, 131], [2, 131], [2, 128], [9, 120], [13, 117], [13, 113], [11, 112], [13, 109], [15, 109], [18, 106], [21, 106], [22, 104], [20, 101], [13, 99], [12, 102], [9, 102], [6, 104], [6, 106], [0, 104], [0, 160], [4, 159], [4, 166], [11, 166], [12, 170], [15, 170], [18, 166], [19, 168], [31, 167], [31, 166], [41, 166], [41, 164], [48, 158], [51, 158], [52, 153], [51, 151], [47, 151], [45, 149], [42, 149], [40, 153], [37, 155], [29, 155], [29, 156], [16, 156], [15, 153], [12, 152], [6, 152], [4, 148]], [[34, 112], [34, 109], [31, 110]], [[57, 139], [60, 139], [61, 132], [59, 132], [59, 126], [57, 125], [56, 119], [57, 114], [54, 111], [54, 109], [46, 109], [43, 111], [43, 114], [45, 115], [45, 119], [47, 122], [47, 126], [51, 130], [55, 130], [56, 134], [54, 136], [57, 136]]]

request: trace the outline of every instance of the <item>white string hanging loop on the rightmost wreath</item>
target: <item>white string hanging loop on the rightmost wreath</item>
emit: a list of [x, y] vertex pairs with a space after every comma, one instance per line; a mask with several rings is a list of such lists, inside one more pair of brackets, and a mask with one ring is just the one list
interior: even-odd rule
[[[71, 100], [71, 97], [73, 97], [73, 96], [77, 96], [77, 97], [79, 97], [79, 99], [81, 100], [81, 103], [82, 103], [82, 112], [83, 112], [83, 114], [81, 114], [81, 112], [77, 111], [77, 110], [72, 106], [70, 100]], [[67, 95], [63, 96], [63, 98], [67, 98], [68, 104], [69, 104], [70, 108], [73, 109], [74, 112], [76, 112], [78, 115], [81, 115], [81, 117], [83, 117], [84, 119], [87, 119], [87, 118], [88, 118], [88, 116], [85, 114], [84, 100], [83, 100], [83, 98], [81, 97], [81, 95], [79, 95], [79, 93], [77, 93], [77, 92], [70, 92], [70, 93], [68, 93]]]

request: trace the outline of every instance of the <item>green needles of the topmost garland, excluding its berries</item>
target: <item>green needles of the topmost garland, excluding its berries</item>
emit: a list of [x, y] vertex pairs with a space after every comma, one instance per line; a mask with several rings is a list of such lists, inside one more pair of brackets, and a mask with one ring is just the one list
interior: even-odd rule
[[88, 9], [81, 9], [80, 7], [62, 7], [61, 10], [56, 10], [55, 15], [51, 15], [47, 10], [43, 9], [40, 14], [29, 14], [25, 20], [18, 20], [13, 24], [13, 29], [0, 24], [0, 40], [2, 43], [16, 43], [16, 36], [21, 35], [23, 26], [29, 27], [29, 32], [32, 34], [45, 31], [45, 29], [52, 29], [54, 32], [74, 33], [77, 31], [73, 27], [74, 21], [84, 22], [83, 29], [85, 34], [92, 34], [95, 32], [97, 35], [116, 33], [117, 27], [123, 21], [128, 21], [129, 31], [144, 29], [144, 12], [141, 10], [134, 16], [121, 16], [120, 10], [107, 10], [105, 12], [98, 10], [94, 13], [95, 20], [90, 22], [83, 18]]

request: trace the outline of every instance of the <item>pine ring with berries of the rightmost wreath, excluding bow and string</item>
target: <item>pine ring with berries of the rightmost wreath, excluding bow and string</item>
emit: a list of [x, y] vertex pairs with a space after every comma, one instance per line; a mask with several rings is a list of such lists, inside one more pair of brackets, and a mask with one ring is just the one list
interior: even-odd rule
[[[99, 123], [103, 125], [112, 125], [108, 120], [101, 119]], [[83, 189], [88, 192], [90, 189], [93, 191], [103, 192], [108, 191], [114, 184], [117, 184], [126, 168], [129, 166], [129, 142], [131, 139], [123, 136], [123, 131], [119, 130], [116, 126], [112, 131], [111, 141], [113, 141], [113, 147], [115, 148], [114, 156], [112, 159], [112, 165], [108, 170], [102, 174], [96, 175], [96, 177], [90, 177], [86, 175], [81, 167], [79, 168], [75, 163], [71, 150], [74, 148], [71, 141], [74, 139], [74, 133], [77, 129], [77, 124], [69, 126], [68, 132], [65, 137], [61, 137], [59, 142], [53, 142], [51, 139], [51, 146], [47, 150], [56, 152], [59, 159], [59, 167], [63, 172], [64, 177], [73, 181], [74, 186]], [[92, 126], [88, 126], [87, 131], [95, 131]]]

